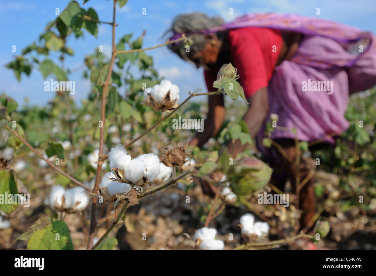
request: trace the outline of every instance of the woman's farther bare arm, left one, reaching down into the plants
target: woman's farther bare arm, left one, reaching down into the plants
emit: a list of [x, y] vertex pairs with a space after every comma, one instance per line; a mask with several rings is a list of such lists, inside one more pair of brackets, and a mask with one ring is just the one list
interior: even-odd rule
[[209, 140], [209, 138], [215, 136], [218, 130], [221, 128], [224, 118], [226, 116], [226, 110], [224, 109], [223, 94], [210, 95], [209, 96], [209, 111], [208, 116], [203, 122], [203, 131], [197, 132], [189, 143], [192, 146], [202, 146]]

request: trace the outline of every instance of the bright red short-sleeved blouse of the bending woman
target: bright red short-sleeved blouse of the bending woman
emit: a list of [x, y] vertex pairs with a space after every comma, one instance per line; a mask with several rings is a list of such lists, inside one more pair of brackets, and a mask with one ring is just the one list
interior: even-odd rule
[[[268, 86], [283, 45], [280, 30], [244, 27], [229, 31], [231, 63], [238, 69], [238, 81], [246, 98]], [[273, 46], [276, 47], [273, 47]], [[273, 51], [273, 49], [275, 49]], [[213, 82], [218, 69], [204, 70], [208, 91], [215, 91]]]

